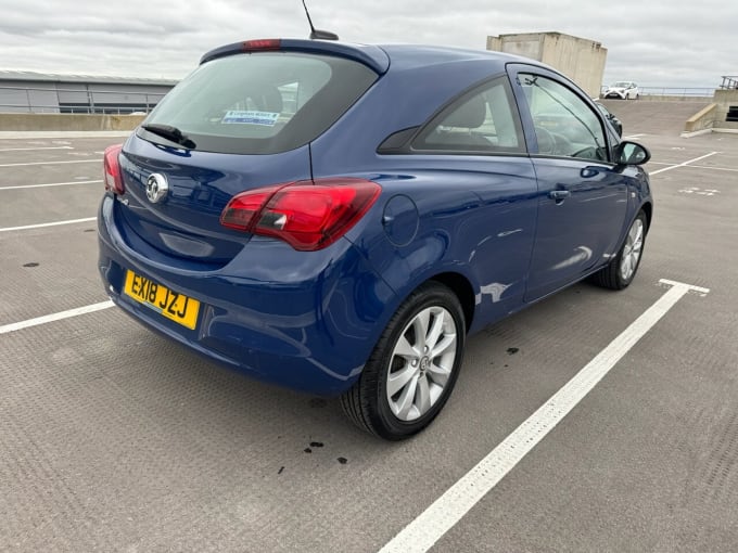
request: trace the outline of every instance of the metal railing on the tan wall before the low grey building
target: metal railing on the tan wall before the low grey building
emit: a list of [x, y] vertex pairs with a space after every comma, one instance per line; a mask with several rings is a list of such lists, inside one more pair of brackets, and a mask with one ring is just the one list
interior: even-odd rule
[[[137, 91], [133, 87], [120, 90], [67, 89], [56, 88], [55, 83], [49, 88], [0, 87], [0, 112], [69, 114], [149, 113], [168, 91]], [[162, 88], [165, 87], [162, 86]]]

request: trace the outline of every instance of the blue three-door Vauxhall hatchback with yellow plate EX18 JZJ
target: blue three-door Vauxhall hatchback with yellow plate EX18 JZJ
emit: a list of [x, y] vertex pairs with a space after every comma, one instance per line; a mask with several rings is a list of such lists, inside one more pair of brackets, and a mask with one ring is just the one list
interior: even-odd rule
[[402, 439], [468, 334], [587, 276], [631, 283], [649, 157], [531, 60], [239, 42], [105, 152], [99, 269], [150, 329]]

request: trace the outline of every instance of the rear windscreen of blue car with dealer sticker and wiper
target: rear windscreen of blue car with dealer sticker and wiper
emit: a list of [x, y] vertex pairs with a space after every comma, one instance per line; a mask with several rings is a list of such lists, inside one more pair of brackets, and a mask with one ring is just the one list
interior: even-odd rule
[[[194, 150], [276, 154], [320, 136], [377, 80], [343, 57], [294, 52], [244, 53], [201, 65], [175, 87], [144, 125], [167, 125]], [[151, 142], [166, 139], [141, 128]]]

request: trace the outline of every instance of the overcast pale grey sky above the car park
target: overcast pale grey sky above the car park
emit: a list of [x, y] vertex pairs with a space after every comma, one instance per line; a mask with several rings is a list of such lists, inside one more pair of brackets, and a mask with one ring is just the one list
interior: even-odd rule
[[[605, 81], [716, 88], [738, 75], [738, 2], [308, 0], [342, 40], [484, 50], [487, 35], [559, 31], [608, 49]], [[307, 38], [301, 0], [0, 0], [0, 69], [179, 79], [207, 50]]]

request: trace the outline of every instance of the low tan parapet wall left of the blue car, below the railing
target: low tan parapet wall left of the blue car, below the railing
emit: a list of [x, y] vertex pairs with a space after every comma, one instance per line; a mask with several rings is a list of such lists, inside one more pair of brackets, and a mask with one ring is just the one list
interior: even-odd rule
[[84, 115], [36, 113], [0, 113], [0, 131], [86, 131], [133, 130], [145, 115]]

